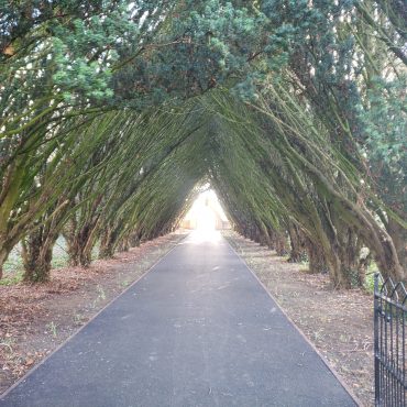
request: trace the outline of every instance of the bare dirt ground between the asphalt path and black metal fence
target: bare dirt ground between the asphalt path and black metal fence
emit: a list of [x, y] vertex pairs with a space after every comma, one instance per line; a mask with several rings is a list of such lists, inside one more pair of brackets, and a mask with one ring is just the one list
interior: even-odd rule
[[332, 290], [328, 275], [307, 274], [306, 265], [287, 263], [234, 232], [226, 237], [360, 402], [373, 406], [372, 296]]

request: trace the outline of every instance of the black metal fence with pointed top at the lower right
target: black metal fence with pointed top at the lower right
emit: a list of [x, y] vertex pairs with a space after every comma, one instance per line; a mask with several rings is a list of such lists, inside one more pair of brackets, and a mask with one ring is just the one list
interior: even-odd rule
[[391, 278], [374, 280], [375, 405], [407, 406], [407, 290]]

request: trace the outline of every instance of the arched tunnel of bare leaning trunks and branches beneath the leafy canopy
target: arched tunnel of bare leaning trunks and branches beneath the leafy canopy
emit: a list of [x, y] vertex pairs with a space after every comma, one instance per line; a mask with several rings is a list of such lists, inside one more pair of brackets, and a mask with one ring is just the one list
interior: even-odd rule
[[97, 240], [109, 257], [167, 233], [209, 183], [235, 230], [293, 261], [307, 253], [310, 270], [329, 271], [338, 287], [363, 279], [362, 245], [384, 274], [403, 277], [392, 240], [360, 199], [358, 168], [283, 88], [266, 97], [253, 107], [220, 89], [170, 110], [91, 120], [66, 142], [73, 162], [41, 174], [42, 194], [50, 184], [58, 197], [23, 243], [26, 268], [48, 273], [59, 233], [84, 266]]

